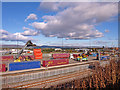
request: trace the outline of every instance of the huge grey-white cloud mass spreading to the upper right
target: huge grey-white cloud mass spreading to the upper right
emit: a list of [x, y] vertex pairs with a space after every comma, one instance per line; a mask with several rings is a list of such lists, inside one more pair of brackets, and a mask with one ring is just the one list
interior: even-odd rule
[[[41, 3], [43, 4], [43, 3]], [[44, 4], [51, 4], [44, 2]], [[95, 27], [117, 15], [117, 3], [52, 3], [56, 15], [45, 15], [43, 22], [30, 24], [47, 37], [91, 39], [103, 37]], [[56, 5], [57, 4], [57, 5]], [[64, 9], [63, 9], [63, 7]], [[40, 5], [41, 7], [43, 5]], [[53, 6], [46, 6], [54, 10]], [[51, 7], [51, 8], [50, 8]]]

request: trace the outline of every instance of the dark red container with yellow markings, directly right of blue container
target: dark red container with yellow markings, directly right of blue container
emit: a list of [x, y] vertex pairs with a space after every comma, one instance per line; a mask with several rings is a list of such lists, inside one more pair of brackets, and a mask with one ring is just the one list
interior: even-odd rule
[[64, 64], [69, 64], [69, 59], [57, 59], [57, 60], [43, 61], [43, 67], [57, 66], [57, 65], [64, 65]]

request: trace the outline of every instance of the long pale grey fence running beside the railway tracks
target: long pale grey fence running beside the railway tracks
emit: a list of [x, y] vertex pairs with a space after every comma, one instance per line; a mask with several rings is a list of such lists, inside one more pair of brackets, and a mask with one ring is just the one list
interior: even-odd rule
[[23, 82], [23, 81], [28, 81], [28, 80], [42, 79], [45, 77], [50, 77], [50, 76], [64, 74], [64, 73], [83, 71], [87, 69], [88, 66], [89, 64], [85, 64], [85, 65], [66, 67], [66, 68], [55, 69], [55, 70], [45, 70], [45, 71], [40, 71], [40, 72], [19, 74], [19, 75], [14, 75], [14, 76], [12, 75], [3, 76], [2, 84], [18, 83], [18, 82]]

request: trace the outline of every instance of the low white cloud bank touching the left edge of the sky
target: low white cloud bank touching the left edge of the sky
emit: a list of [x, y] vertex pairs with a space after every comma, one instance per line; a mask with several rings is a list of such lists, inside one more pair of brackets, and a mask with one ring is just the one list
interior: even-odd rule
[[25, 42], [28, 40], [33, 40], [33, 38], [23, 36], [21, 33], [12, 34], [12, 33], [7, 32], [6, 30], [2, 30], [2, 29], [0, 30], [0, 33], [1, 32], [2, 32], [2, 34], [1, 34], [0, 39], [4, 40], [4, 41], [22, 41], [22, 42]]

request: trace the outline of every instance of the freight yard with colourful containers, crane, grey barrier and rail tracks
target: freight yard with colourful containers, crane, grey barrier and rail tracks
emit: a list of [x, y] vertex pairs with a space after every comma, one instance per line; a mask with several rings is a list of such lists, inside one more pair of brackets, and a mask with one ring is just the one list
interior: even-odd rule
[[100, 63], [105, 66], [110, 59], [118, 59], [116, 56], [97, 52], [42, 53], [40, 48], [35, 48], [33, 54], [23, 55], [21, 51], [1, 56], [3, 88], [48, 88], [65, 83], [65, 80], [88, 77], [93, 72], [94, 66], [91, 65]]

